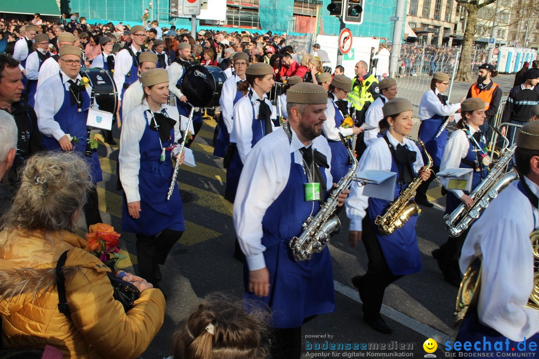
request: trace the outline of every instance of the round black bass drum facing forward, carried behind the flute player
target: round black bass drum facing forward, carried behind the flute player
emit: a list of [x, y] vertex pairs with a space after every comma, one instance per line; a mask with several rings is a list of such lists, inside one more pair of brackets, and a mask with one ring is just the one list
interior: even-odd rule
[[195, 107], [217, 107], [225, 81], [220, 68], [195, 65], [185, 70], [181, 91]]

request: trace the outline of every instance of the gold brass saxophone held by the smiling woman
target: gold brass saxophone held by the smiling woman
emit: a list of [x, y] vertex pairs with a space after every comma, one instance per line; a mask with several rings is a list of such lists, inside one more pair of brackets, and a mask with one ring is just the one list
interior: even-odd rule
[[[423, 170], [430, 171], [432, 167], [432, 158], [425, 149], [423, 141], [418, 140], [418, 144], [427, 156], [427, 164]], [[412, 201], [412, 198], [416, 195], [417, 187], [419, 187], [421, 182], [423, 182], [423, 179], [421, 179], [421, 174], [418, 173], [416, 178], [413, 179], [400, 196], [391, 202], [391, 205], [385, 213], [376, 217], [374, 223], [378, 226], [378, 230], [382, 235], [392, 234], [396, 228], [403, 227], [410, 219], [410, 216], [417, 216], [421, 213], [421, 208], [419, 208], [416, 202]]]

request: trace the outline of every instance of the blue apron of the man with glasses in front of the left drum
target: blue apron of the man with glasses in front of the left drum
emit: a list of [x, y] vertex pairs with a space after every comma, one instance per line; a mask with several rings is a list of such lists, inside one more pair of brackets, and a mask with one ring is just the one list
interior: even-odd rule
[[[63, 82], [61, 74], [60, 81]], [[88, 139], [86, 119], [88, 117], [88, 108], [90, 107], [90, 96], [86, 90], [80, 90], [82, 112], [78, 112], [78, 105], [76, 103], [74, 105], [71, 104], [70, 90], [65, 89], [64, 83], [62, 83], [62, 86], [64, 87], [64, 102], [62, 103], [60, 110], [54, 115], [54, 121], [60, 124], [62, 131], [68, 133], [72, 137], [77, 137], [78, 142], [72, 143], [73, 152], [80, 154], [80, 156], [84, 157], [87, 161], [92, 175], [92, 182], [101, 182], [103, 180], [103, 174], [101, 173], [98, 152], [93, 149], [92, 156], [86, 156], [84, 154]], [[43, 136], [42, 142], [47, 150], [61, 150], [60, 144], [54, 137]]]

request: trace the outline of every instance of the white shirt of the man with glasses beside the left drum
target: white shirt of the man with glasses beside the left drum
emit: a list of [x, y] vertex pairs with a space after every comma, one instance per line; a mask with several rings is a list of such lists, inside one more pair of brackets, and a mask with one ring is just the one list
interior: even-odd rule
[[[56, 140], [64, 137], [66, 133], [60, 128], [60, 124], [54, 121], [54, 115], [62, 107], [64, 103], [64, 90], [71, 86], [67, 81], [71, 80], [63, 71], [60, 70], [62, 78], [58, 73], [47, 79], [36, 91], [36, 104], [34, 110], [37, 115], [37, 125], [39, 132], [45, 136], [54, 137]], [[77, 80], [80, 80], [80, 74], [77, 75]], [[92, 87], [86, 88], [88, 95], [92, 93]], [[94, 108], [97, 108], [94, 105]], [[83, 108], [82, 111], [87, 110]]]

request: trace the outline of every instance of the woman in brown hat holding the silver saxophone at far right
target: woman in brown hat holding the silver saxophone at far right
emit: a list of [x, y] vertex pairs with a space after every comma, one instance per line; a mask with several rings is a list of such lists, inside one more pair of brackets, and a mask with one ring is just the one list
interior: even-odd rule
[[[480, 98], [468, 98], [462, 102], [460, 111], [462, 119], [457, 123], [457, 131], [447, 141], [444, 157], [441, 159], [440, 171], [448, 168], [473, 168], [472, 191], [487, 177], [490, 157], [486, 153], [486, 140], [480, 128], [485, 122], [485, 102]], [[447, 188], [448, 178], [441, 179], [447, 190], [445, 213], [451, 214], [460, 203], [466, 207], [473, 205], [468, 191]], [[459, 255], [462, 242], [466, 238], [463, 233], [457, 238], [448, 238], [439, 249], [432, 251], [438, 267], [449, 283], [460, 285]]]

